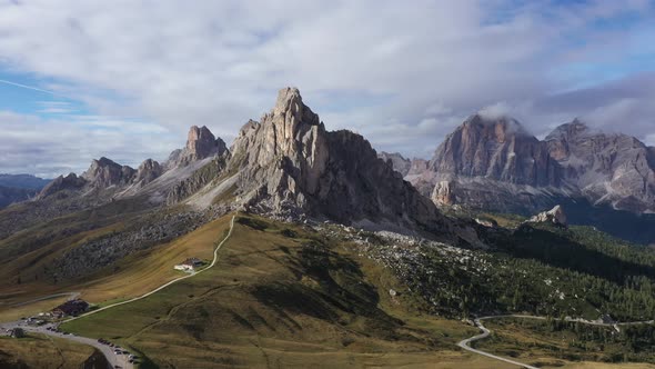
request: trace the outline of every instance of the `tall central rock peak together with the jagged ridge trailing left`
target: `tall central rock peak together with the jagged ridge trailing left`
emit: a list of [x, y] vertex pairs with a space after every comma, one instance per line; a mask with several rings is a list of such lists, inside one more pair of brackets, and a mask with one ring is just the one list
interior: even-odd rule
[[148, 159], [134, 169], [108, 158], [92, 160], [82, 174], [52, 180], [34, 201], [14, 209], [4, 226], [20, 230], [46, 215], [112, 201], [139, 203], [144, 210], [241, 209], [478, 243], [472, 229], [442, 216], [427, 197], [379, 160], [363, 137], [326, 131], [294, 88], [281, 90], [275, 107], [260, 121], [246, 122], [231, 148], [206, 127], [194, 126], [187, 146], [163, 163]]

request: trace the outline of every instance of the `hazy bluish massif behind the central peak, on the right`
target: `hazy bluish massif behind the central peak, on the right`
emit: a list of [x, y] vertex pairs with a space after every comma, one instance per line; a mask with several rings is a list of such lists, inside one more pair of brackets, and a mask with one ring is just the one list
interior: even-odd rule
[[441, 207], [527, 216], [562, 203], [575, 223], [655, 240], [655, 148], [577, 119], [541, 141], [515, 119], [474, 114], [429, 161], [380, 158]]

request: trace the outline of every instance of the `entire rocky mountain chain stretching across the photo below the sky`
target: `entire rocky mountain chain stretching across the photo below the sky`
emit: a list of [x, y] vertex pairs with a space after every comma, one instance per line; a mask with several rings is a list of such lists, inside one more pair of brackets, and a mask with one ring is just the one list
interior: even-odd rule
[[4, 232], [129, 201], [143, 210], [242, 209], [477, 245], [471, 227], [437, 207], [530, 216], [562, 205], [572, 223], [643, 243], [655, 240], [655, 148], [633, 137], [574, 120], [538, 140], [515, 119], [477, 113], [449, 134], [432, 159], [409, 160], [376, 153], [353, 132], [326, 131], [293, 88], [281, 90], [260, 121], [246, 122], [230, 148], [206, 127], [193, 126], [185, 147], [162, 163], [148, 159], [134, 169], [100, 158], [80, 176], [58, 177], [38, 193], [44, 180], [11, 180], [31, 187], [7, 190], [7, 203], [33, 201], [11, 217], [0, 215]]

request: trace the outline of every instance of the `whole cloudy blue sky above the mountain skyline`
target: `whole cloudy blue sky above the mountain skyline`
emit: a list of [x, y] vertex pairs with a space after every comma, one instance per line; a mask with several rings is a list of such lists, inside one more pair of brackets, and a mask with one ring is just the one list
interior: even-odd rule
[[298, 87], [329, 130], [429, 158], [467, 116], [655, 144], [655, 1], [0, 0], [0, 172], [229, 144]]

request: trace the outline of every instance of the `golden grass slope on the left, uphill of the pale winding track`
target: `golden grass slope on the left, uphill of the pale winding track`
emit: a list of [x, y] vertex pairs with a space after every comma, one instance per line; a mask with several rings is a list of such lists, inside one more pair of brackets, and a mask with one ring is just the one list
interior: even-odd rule
[[[53, 283], [44, 278], [33, 278], [47, 268], [53, 258], [78, 247], [85, 239], [99, 237], [121, 227], [82, 232], [28, 252], [0, 269], [0, 319], [12, 320], [38, 311], [49, 310], [61, 302], [53, 299], [16, 307], [16, 303], [59, 292], [81, 292], [81, 298], [100, 305], [140, 296], [164, 282], [182, 276], [173, 266], [189, 257], [210, 260], [218, 233], [229, 227], [230, 217], [218, 219], [171, 242], [137, 251], [101, 270], [79, 279]], [[1, 247], [1, 246], [0, 246]], [[19, 275], [21, 283], [16, 282]]]

